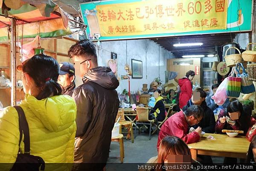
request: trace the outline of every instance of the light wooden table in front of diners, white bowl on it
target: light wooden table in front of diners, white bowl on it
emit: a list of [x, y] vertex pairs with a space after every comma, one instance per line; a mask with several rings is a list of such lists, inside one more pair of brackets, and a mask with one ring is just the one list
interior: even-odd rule
[[[215, 138], [207, 139], [211, 135]], [[188, 144], [192, 159], [197, 159], [197, 154], [234, 157], [246, 159], [250, 142], [245, 136], [230, 137], [227, 134], [205, 133], [199, 142]]]

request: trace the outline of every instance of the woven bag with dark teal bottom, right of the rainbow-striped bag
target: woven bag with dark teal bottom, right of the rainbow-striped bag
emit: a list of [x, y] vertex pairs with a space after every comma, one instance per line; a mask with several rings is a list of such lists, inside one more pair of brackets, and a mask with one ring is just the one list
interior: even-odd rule
[[[239, 68], [238, 68], [239, 67]], [[240, 74], [240, 68], [242, 68], [242, 73]], [[255, 92], [255, 87], [253, 84], [253, 81], [249, 80], [248, 74], [244, 70], [244, 66], [241, 63], [236, 64], [236, 71], [237, 71], [237, 76], [241, 78], [241, 93], [244, 94], [250, 94]]]

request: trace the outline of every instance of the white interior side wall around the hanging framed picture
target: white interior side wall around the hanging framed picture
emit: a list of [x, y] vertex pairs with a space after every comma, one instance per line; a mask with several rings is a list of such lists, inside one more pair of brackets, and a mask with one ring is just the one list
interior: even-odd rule
[[[147, 45], [146, 45], [147, 43]], [[97, 44], [97, 43], [96, 43]], [[146, 51], [147, 46], [147, 51]], [[96, 46], [98, 54], [99, 66], [107, 66], [108, 60], [111, 59], [111, 52], [117, 53], [117, 74], [118, 77], [125, 75], [126, 64], [126, 41], [102, 41]], [[127, 63], [131, 67], [131, 59], [137, 59], [143, 62], [143, 78], [130, 78], [131, 92], [138, 89], [142, 90], [142, 84], [150, 83], [160, 75], [160, 80], [165, 83], [166, 58], [173, 58], [171, 52], [163, 49], [160, 46], [159, 60], [159, 45], [151, 40], [129, 40], [127, 41]], [[159, 72], [160, 66], [160, 72]], [[159, 74], [160, 73], [160, 74]], [[117, 92], [128, 90], [128, 80], [121, 80], [117, 88]]]

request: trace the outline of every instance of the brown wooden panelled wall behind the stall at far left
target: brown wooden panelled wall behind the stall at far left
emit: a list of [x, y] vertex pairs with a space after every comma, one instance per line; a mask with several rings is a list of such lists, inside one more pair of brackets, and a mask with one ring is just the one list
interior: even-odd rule
[[[67, 51], [77, 40], [71, 38], [41, 40], [41, 47], [45, 49], [45, 53], [55, 58], [59, 63], [70, 61]], [[28, 43], [24, 41], [23, 43]], [[20, 48], [17, 48], [17, 65], [20, 61]], [[0, 44], [0, 70], [4, 70], [6, 78], [11, 78], [11, 50], [10, 44]], [[17, 73], [17, 81], [21, 79], [19, 72]], [[17, 101], [24, 99], [24, 92], [21, 88], [17, 88]], [[11, 104], [11, 88], [0, 88], [0, 101], [3, 106]]]

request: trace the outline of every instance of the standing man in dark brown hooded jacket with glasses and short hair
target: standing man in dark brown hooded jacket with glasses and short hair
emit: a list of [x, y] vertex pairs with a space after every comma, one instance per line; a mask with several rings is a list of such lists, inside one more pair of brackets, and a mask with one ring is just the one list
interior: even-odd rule
[[102, 171], [108, 160], [111, 131], [119, 107], [115, 90], [119, 81], [109, 67], [98, 67], [92, 42], [77, 42], [68, 55], [79, 61], [84, 82], [72, 96], [77, 105], [73, 171]]

